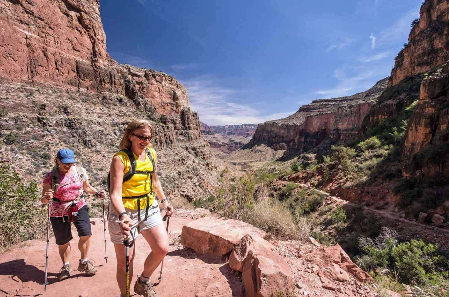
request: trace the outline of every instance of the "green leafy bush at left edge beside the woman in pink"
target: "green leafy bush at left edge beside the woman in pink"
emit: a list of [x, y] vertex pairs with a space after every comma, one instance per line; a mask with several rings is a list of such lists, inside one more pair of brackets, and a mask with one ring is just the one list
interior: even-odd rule
[[41, 205], [36, 182], [26, 186], [9, 166], [0, 167], [0, 248], [46, 234], [48, 208]]

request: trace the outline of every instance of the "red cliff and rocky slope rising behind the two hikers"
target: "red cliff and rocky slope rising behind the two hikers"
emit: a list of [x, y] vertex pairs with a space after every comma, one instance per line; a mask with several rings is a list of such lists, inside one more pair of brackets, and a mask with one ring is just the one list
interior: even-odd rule
[[187, 90], [163, 72], [110, 58], [98, 0], [0, 0], [0, 27], [0, 150], [13, 166], [37, 163], [17, 166], [24, 177], [40, 180], [51, 167], [35, 160], [42, 148], [45, 161], [68, 146], [101, 182], [123, 129], [146, 118], [169, 193], [194, 198], [215, 185], [215, 159]]

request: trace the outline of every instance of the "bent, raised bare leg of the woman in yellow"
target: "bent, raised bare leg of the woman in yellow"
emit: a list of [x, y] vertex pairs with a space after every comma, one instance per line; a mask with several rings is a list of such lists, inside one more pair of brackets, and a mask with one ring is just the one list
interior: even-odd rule
[[168, 235], [163, 224], [141, 232], [150, 244], [151, 253], [146, 257], [142, 274], [150, 277], [168, 252]]

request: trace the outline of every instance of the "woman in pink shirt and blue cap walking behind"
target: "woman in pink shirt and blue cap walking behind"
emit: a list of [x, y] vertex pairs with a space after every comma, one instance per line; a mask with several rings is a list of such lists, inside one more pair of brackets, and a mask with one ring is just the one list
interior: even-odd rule
[[86, 199], [83, 196], [83, 190], [89, 194], [96, 195], [105, 199], [104, 190], [97, 191], [89, 184], [89, 177], [86, 169], [76, 167], [75, 154], [70, 149], [62, 149], [57, 152], [55, 163], [57, 167], [45, 175], [44, 186], [42, 189], [43, 204], [48, 204], [52, 200], [50, 207], [50, 222], [52, 223], [53, 233], [56, 238], [56, 244], [59, 248], [59, 255], [63, 266], [59, 271], [58, 279], [66, 279], [72, 272], [70, 266], [70, 240], [72, 232], [70, 230], [69, 210], [76, 204], [77, 212], [73, 222], [79, 235], [78, 249], [81, 253], [78, 271], [92, 275], [97, 272], [88, 259], [88, 249], [92, 230], [90, 227], [89, 208]]

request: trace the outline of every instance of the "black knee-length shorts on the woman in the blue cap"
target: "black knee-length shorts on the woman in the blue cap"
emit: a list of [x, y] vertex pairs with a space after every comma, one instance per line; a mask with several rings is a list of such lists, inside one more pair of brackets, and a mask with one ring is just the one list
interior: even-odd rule
[[[53, 233], [55, 234], [57, 245], [66, 244], [73, 239], [70, 223], [67, 222], [67, 219], [68, 216], [65, 216], [64, 222], [62, 217], [50, 217], [50, 222], [52, 223]], [[78, 215], [76, 216], [76, 220], [73, 224], [78, 231], [79, 237], [92, 235], [89, 219], [89, 208], [87, 205], [84, 205], [82, 208], [78, 209]]]

